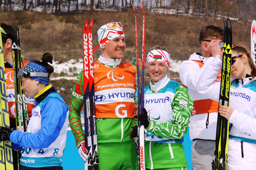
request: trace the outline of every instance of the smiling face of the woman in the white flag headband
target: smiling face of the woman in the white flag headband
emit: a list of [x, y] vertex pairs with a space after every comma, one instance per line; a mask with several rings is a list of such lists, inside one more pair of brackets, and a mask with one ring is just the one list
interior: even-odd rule
[[167, 74], [168, 67], [161, 61], [151, 61], [148, 63], [147, 71], [152, 79], [152, 83], [158, 82]]

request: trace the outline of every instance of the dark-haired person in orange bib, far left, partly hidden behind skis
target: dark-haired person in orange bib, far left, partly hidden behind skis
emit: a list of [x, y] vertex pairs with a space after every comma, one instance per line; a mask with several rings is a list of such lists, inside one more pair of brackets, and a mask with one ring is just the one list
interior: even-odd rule
[[[3, 43], [3, 55], [5, 62], [5, 79], [8, 100], [8, 110], [10, 119], [10, 128], [16, 129], [16, 113], [15, 113], [15, 95], [14, 95], [14, 81], [12, 68], [12, 30], [13, 26], [1, 23], [1, 35]], [[23, 61], [23, 67], [28, 62]], [[31, 116], [32, 108], [35, 106], [35, 99], [27, 96], [27, 111], [29, 117]], [[12, 146], [14, 147], [14, 146]], [[17, 148], [16, 148], [17, 149]], [[13, 168], [18, 169], [17, 151], [12, 149]]]

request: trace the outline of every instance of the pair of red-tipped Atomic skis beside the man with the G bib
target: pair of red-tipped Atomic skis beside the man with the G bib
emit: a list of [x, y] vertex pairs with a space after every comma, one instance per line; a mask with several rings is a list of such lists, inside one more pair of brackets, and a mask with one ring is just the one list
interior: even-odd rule
[[94, 103], [92, 24], [93, 19], [89, 25], [88, 20], [84, 24], [84, 136], [85, 147], [89, 152], [85, 162], [85, 170], [98, 170], [99, 166]]

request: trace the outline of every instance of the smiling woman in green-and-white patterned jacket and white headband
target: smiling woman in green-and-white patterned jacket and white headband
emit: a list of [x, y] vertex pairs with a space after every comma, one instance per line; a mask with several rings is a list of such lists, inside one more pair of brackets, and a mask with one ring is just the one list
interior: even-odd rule
[[[144, 114], [137, 119], [145, 128], [145, 167], [186, 170], [182, 142], [187, 133], [193, 100], [187, 88], [167, 77], [170, 55], [165, 47], [153, 47], [146, 64], [151, 80], [144, 91]], [[137, 137], [137, 131], [136, 126], [132, 130], [133, 138]]]

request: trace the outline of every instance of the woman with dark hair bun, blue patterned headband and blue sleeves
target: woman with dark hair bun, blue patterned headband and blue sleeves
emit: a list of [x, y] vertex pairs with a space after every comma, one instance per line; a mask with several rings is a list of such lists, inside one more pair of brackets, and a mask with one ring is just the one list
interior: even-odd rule
[[62, 170], [62, 154], [68, 128], [68, 106], [49, 85], [54, 68], [52, 55], [45, 53], [42, 61], [29, 62], [19, 70], [21, 90], [34, 97], [36, 107], [27, 126], [27, 132], [0, 127], [0, 141], [11, 141], [13, 149], [19, 150], [20, 170]]

